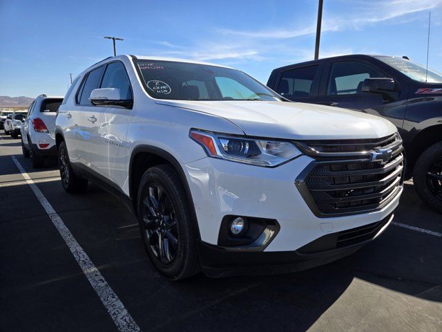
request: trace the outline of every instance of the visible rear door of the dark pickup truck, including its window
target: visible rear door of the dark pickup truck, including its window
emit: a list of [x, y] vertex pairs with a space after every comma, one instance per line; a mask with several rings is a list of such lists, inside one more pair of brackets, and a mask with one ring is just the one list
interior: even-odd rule
[[316, 102], [322, 69], [323, 62], [286, 68], [274, 90], [295, 102]]

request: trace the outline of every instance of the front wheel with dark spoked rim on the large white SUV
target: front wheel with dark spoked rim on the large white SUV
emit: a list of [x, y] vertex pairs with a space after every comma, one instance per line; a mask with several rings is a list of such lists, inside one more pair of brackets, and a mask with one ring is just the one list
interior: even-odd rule
[[173, 169], [167, 165], [148, 169], [141, 178], [137, 198], [144, 247], [157, 271], [171, 280], [198, 273], [195, 223], [186, 192]]

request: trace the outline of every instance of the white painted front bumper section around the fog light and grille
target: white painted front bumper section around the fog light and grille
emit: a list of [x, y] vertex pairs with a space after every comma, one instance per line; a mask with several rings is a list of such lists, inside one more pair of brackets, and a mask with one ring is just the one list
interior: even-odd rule
[[402, 189], [381, 210], [316, 216], [295, 185], [311, 161], [309, 156], [300, 156], [279, 167], [267, 168], [202, 158], [184, 165], [200, 239], [218, 246], [222, 219], [227, 215], [273, 219], [280, 230], [264, 252], [294, 251], [325, 234], [381, 221], [397, 207]]

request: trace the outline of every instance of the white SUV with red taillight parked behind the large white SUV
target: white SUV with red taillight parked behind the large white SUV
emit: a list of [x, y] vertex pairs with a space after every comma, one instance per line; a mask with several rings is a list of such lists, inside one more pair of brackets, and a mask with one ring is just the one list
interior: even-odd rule
[[23, 156], [30, 157], [32, 167], [43, 167], [44, 159], [57, 156], [55, 117], [63, 97], [39, 95], [30, 104], [28, 118], [21, 126]]

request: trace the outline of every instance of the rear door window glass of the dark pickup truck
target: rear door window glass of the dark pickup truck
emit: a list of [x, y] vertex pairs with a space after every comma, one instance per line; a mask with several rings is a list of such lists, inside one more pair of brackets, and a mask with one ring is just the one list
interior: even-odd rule
[[285, 98], [309, 97], [318, 66], [308, 66], [282, 73], [278, 92]]

